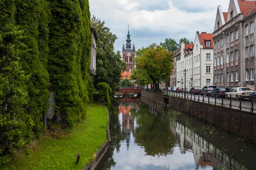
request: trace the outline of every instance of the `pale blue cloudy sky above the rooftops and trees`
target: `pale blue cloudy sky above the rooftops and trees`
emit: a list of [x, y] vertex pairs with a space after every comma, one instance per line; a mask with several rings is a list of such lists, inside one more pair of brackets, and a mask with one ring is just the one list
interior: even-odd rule
[[212, 33], [218, 5], [227, 12], [230, 0], [89, 0], [91, 15], [105, 20], [122, 51], [128, 23], [136, 49], [166, 38], [195, 40], [195, 32]]

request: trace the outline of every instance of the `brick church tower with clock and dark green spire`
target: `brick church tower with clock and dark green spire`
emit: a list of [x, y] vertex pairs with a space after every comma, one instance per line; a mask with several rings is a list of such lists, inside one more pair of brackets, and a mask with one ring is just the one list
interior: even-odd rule
[[123, 43], [122, 48], [122, 57], [123, 61], [126, 63], [126, 70], [121, 73], [122, 78], [121, 79], [130, 79], [130, 74], [132, 73], [132, 69], [134, 68], [134, 57], [135, 57], [135, 45], [133, 43], [133, 46], [131, 47], [131, 39], [129, 34], [129, 27], [128, 27], [128, 34], [127, 34], [127, 40], [126, 40], [126, 46]]

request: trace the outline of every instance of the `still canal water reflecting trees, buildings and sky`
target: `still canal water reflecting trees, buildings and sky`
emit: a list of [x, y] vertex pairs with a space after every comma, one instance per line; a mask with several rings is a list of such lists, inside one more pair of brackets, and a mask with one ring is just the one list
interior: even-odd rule
[[142, 101], [111, 106], [111, 148], [96, 170], [256, 170], [255, 145]]

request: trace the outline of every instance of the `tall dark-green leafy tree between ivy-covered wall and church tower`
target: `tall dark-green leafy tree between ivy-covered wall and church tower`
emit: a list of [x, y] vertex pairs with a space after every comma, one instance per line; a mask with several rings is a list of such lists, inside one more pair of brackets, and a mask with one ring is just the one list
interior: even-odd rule
[[96, 51], [97, 74], [94, 77], [94, 84], [105, 82], [112, 89], [111, 98], [118, 90], [121, 72], [125, 70], [126, 64], [122, 61], [120, 51], [114, 51], [116, 34], [105, 26], [105, 21], [101, 21], [95, 16], [91, 18], [91, 25], [96, 26], [98, 40]]

